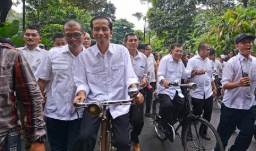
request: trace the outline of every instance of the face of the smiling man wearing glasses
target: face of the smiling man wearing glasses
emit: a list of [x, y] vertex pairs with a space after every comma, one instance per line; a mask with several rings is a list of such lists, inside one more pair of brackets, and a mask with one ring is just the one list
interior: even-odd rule
[[64, 26], [64, 37], [70, 48], [77, 49], [84, 42], [85, 32], [81, 32], [79, 25], [73, 27]]

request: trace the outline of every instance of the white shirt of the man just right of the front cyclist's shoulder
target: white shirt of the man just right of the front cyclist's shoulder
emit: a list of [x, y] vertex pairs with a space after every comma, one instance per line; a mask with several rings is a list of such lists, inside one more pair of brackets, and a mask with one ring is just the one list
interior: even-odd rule
[[[147, 75], [148, 73], [147, 58], [143, 53], [140, 53], [137, 50], [137, 55], [135, 57], [130, 55], [130, 60], [132, 61], [133, 71], [137, 75], [140, 83], [141, 79], [143, 78], [143, 75]], [[139, 86], [139, 90], [140, 89], [143, 89], [143, 88]]]

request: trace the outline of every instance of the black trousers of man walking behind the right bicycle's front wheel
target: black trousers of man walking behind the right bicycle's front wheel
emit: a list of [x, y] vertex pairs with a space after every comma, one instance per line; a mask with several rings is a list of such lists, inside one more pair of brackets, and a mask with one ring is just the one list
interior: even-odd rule
[[[193, 111], [194, 115], [201, 115], [203, 114], [203, 118], [211, 121], [211, 113], [213, 112], [213, 95], [211, 95], [208, 98], [199, 99], [199, 98], [192, 98], [192, 105], [193, 105]], [[204, 125], [200, 126], [199, 132], [202, 134], [207, 133], [207, 127]]]

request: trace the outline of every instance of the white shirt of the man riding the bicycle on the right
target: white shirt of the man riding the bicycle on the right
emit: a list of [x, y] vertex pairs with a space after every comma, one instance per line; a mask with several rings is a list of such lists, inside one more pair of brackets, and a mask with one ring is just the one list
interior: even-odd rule
[[186, 70], [181, 60], [176, 62], [173, 60], [171, 54], [162, 57], [159, 68], [157, 70], [157, 95], [167, 94], [173, 100], [176, 91], [178, 91], [178, 95], [183, 98], [184, 95], [182, 94], [181, 88], [179, 86], [171, 85], [168, 89], [165, 89], [164, 85], [161, 83], [161, 80], [166, 79], [168, 82], [174, 82], [175, 80], [178, 80], [178, 82], [181, 83], [181, 78], [186, 79], [187, 77], [190, 77], [190, 75], [191, 70]]

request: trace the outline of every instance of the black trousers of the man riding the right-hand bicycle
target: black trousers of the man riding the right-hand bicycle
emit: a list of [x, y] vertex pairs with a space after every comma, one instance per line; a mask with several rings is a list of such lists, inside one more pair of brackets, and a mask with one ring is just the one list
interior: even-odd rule
[[178, 118], [184, 108], [185, 97], [181, 98], [178, 95], [178, 91], [176, 91], [173, 100], [171, 100], [171, 97], [167, 94], [159, 94], [158, 97], [160, 100], [161, 123], [166, 127], [168, 123], [173, 124]]

